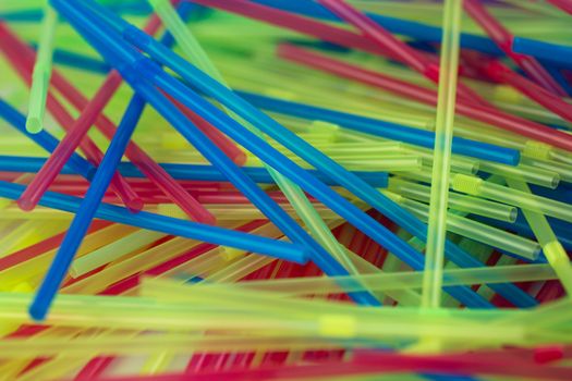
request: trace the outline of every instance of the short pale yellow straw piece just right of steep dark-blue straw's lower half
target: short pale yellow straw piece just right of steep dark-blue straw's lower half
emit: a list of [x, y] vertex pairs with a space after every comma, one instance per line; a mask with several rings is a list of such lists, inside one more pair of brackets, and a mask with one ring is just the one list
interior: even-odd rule
[[153, 233], [144, 230], [130, 234], [81, 258], [76, 258], [70, 267], [70, 275], [73, 278], [84, 275], [129, 253], [150, 245], [163, 236], [165, 234], [162, 233]]

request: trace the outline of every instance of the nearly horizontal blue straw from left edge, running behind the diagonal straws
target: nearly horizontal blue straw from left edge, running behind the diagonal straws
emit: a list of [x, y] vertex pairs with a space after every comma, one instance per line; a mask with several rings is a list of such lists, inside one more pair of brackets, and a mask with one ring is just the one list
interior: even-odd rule
[[[41, 169], [46, 162], [44, 158], [22, 157], [22, 156], [0, 156], [0, 172], [23, 172], [36, 173]], [[175, 180], [194, 180], [205, 182], [228, 182], [229, 180], [212, 165], [202, 164], [180, 164], [180, 163], [160, 163], [161, 168]], [[275, 184], [265, 168], [259, 167], [242, 167], [243, 171], [255, 183], [259, 184]], [[137, 167], [131, 162], [121, 162], [118, 165], [119, 172], [124, 177], [146, 179]], [[94, 168], [95, 172], [95, 168]], [[321, 172], [308, 170], [312, 175], [329, 186], [338, 186], [339, 184], [330, 177], [321, 174]], [[64, 167], [61, 174], [76, 174], [70, 167]], [[385, 188], [388, 183], [388, 174], [386, 172], [353, 172], [363, 181], [367, 182], [373, 187]]]

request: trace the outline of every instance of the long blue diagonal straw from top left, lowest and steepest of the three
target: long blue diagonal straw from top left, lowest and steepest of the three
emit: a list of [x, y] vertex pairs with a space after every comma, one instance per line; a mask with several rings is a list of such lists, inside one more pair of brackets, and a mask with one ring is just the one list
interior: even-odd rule
[[[155, 70], [160, 71], [156, 64], [142, 57], [136, 50], [125, 48], [120, 39], [108, 35], [107, 29], [99, 28], [94, 22], [95, 14], [86, 16], [80, 10], [81, 3], [71, 7], [64, 1], [51, 1], [53, 7], [65, 16], [75, 28], [117, 67], [124, 79], [132, 85], [135, 91], [144, 97], [153, 107], [163, 115], [175, 128], [193, 144], [202, 155], [217, 165], [228, 179], [272, 221], [293, 242], [302, 244], [308, 249], [312, 260], [328, 275], [348, 275], [348, 271], [338, 263], [314, 238], [312, 238], [278, 204], [276, 204], [256, 183], [254, 183], [240, 167], [234, 164], [220, 149], [202, 132], [192, 124], [170, 101], [167, 100], [146, 78], [155, 75]], [[96, 5], [96, 4], [94, 4]], [[406, 244], [405, 244], [406, 245]], [[349, 293], [357, 303], [365, 305], [379, 305], [379, 302], [369, 293]]]

